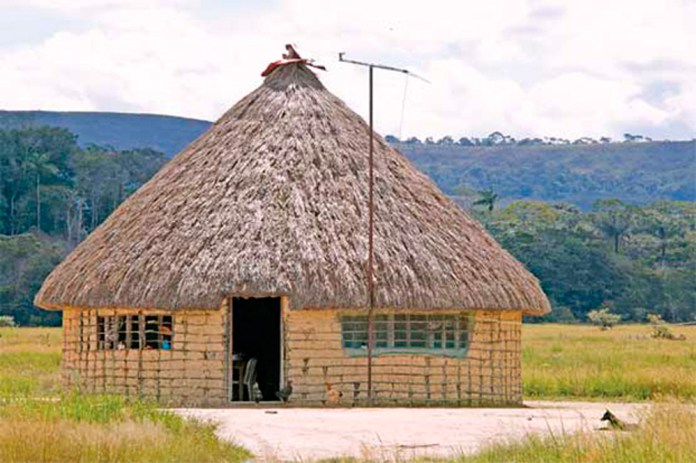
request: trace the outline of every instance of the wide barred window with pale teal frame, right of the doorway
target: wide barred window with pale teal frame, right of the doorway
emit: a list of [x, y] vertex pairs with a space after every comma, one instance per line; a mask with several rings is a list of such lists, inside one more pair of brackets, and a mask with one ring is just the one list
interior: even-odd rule
[[[466, 355], [468, 315], [375, 315], [373, 353]], [[367, 354], [367, 315], [341, 317], [343, 348]]]

